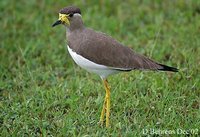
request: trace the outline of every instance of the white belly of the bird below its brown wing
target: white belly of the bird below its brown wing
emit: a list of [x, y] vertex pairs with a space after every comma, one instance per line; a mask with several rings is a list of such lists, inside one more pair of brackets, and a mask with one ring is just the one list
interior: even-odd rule
[[78, 55], [76, 52], [72, 51], [72, 49], [67, 46], [69, 54], [73, 58], [73, 60], [83, 69], [98, 74], [102, 79], [105, 79], [108, 75], [118, 73], [120, 71], [114, 70], [112, 68], [109, 68], [104, 65], [96, 64], [80, 55]]

